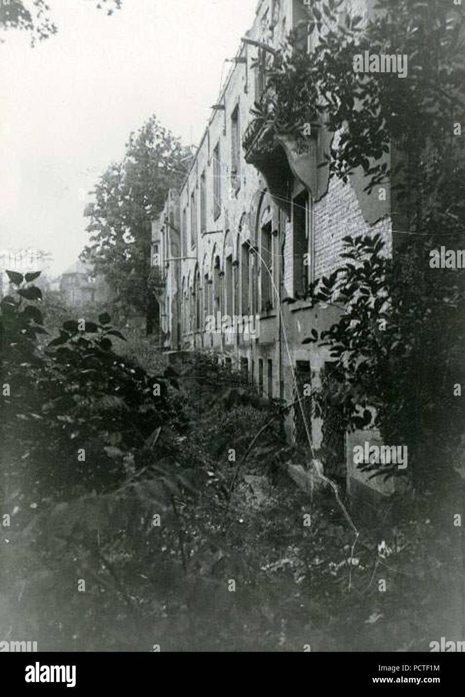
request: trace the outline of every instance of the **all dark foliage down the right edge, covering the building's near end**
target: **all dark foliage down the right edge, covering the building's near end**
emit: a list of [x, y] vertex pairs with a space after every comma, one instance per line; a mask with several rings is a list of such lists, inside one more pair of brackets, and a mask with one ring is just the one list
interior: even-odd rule
[[[387, 187], [402, 225], [393, 260], [379, 236], [347, 237], [345, 264], [310, 289], [341, 309], [329, 331], [306, 339], [330, 352], [339, 378], [337, 389], [315, 392], [315, 409], [327, 415], [338, 404], [347, 429], [371, 424], [385, 443], [408, 444], [416, 484], [425, 484], [441, 477], [463, 431], [453, 385], [465, 377], [464, 271], [429, 268], [429, 252], [465, 242], [464, 146], [454, 135], [464, 115], [465, 17], [441, 0], [377, 0], [365, 19], [315, 0], [308, 30], [310, 54], [294, 33], [267, 66], [255, 131], [293, 132], [304, 146], [303, 123], [317, 121], [333, 136], [321, 163], [330, 178], [347, 183], [358, 171], [372, 196]], [[365, 51], [407, 55], [407, 78], [355, 72]]]

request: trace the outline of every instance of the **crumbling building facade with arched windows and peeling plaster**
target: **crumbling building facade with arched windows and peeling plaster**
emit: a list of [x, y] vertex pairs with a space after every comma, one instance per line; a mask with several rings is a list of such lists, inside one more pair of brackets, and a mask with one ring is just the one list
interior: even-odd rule
[[[345, 11], [366, 16], [371, 5], [352, 1]], [[381, 233], [392, 250], [389, 189], [379, 201], [363, 192], [362, 174], [347, 184], [329, 182], [326, 167], [317, 166], [331, 142], [322, 128], [312, 124], [304, 153], [290, 137], [262, 147], [266, 134], [257, 130], [251, 108], [265, 81], [253, 63], [267, 61], [264, 46], [279, 49], [291, 29], [299, 30], [311, 51], [306, 17], [302, 0], [258, 3], [189, 174], [179, 192], [169, 192], [152, 224], [151, 278], [164, 346], [215, 351], [226, 365], [248, 374], [262, 395], [287, 404], [297, 391], [304, 394], [304, 385], [320, 385], [329, 355], [302, 342], [313, 328], [328, 328], [340, 311], [286, 299], [303, 296], [311, 282], [343, 263], [347, 235]], [[205, 331], [207, 316], [218, 312], [259, 316], [258, 336]], [[309, 401], [303, 401], [304, 411]], [[393, 491], [393, 480], [368, 482], [353, 464], [354, 445], [376, 443], [377, 432], [345, 434], [336, 412], [331, 425], [311, 419], [309, 409], [306, 418], [299, 406], [293, 412], [290, 439], [306, 447], [310, 438], [326, 475], [354, 494]]]

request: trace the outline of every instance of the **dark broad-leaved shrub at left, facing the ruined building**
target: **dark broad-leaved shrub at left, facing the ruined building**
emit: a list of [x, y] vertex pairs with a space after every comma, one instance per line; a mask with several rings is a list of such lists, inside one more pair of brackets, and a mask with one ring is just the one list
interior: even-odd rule
[[[1, 474], [15, 486], [24, 462], [33, 491], [63, 498], [114, 488], [129, 463], [135, 471], [147, 464], [150, 436], [173, 416], [168, 382], [113, 351], [113, 337], [123, 336], [106, 313], [98, 322], [68, 319], [41, 347], [39, 337], [48, 332], [42, 293], [33, 285], [38, 274], [7, 273], [16, 293], [0, 303], [2, 383], [8, 385], [2, 442], [9, 453]], [[160, 459], [162, 452], [160, 446]]]

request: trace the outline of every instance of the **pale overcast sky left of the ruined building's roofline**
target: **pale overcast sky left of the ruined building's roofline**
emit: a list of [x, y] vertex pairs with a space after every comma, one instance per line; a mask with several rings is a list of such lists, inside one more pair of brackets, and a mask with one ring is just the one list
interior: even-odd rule
[[[0, 0], [1, 1], [1, 0]], [[82, 213], [127, 135], [155, 112], [197, 144], [221, 70], [256, 0], [124, 0], [111, 17], [85, 0], [49, 0], [58, 34], [0, 44], [0, 250], [52, 252], [52, 273], [88, 241]]]

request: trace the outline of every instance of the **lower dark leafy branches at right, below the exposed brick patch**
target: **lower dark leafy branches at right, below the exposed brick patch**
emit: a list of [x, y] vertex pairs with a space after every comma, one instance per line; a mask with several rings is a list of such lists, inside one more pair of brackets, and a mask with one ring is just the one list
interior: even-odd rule
[[448, 472], [463, 433], [454, 385], [465, 383], [464, 272], [451, 279], [449, 269], [429, 268], [425, 245], [395, 261], [383, 247], [379, 234], [348, 236], [345, 265], [309, 291], [313, 302], [342, 309], [329, 330], [305, 341], [326, 347], [336, 377], [314, 391], [315, 413], [324, 419], [338, 405], [348, 431], [377, 427], [384, 443], [407, 445], [413, 481], [430, 486]]

